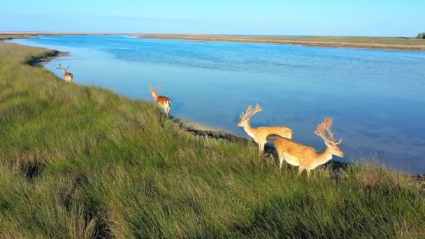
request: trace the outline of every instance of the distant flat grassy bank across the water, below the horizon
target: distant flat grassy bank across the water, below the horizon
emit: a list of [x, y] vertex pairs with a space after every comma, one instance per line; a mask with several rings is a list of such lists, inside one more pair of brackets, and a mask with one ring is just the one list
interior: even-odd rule
[[380, 38], [355, 36], [226, 36], [199, 34], [143, 34], [140, 38], [184, 39], [192, 41], [233, 41], [274, 43], [331, 48], [368, 48], [387, 50], [425, 50], [425, 41], [416, 38]]

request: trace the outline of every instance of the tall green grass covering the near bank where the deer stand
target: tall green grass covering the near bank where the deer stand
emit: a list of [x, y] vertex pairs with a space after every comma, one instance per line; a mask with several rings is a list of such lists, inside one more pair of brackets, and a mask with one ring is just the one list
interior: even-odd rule
[[425, 237], [409, 175], [279, 171], [254, 143], [28, 64], [52, 54], [0, 42], [0, 238]]

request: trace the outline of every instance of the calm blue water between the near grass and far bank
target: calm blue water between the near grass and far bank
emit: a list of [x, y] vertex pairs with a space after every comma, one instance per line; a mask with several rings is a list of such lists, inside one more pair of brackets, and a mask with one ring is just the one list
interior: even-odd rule
[[[171, 115], [246, 136], [239, 113], [260, 103], [254, 126], [284, 125], [294, 140], [324, 149], [324, 117], [346, 159], [376, 157], [398, 171], [425, 173], [425, 52], [194, 42], [131, 36], [40, 36], [13, 40], [69, 51], [45, 67], [71, 64], [74, 82], [173, 99]], [[336, 158], [336, 157], [334, 157]]]

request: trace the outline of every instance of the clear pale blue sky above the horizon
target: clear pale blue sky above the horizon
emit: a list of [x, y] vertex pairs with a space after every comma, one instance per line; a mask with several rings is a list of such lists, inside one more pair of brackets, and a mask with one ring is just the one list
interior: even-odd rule
[[2, 0], [0, 31], [417, 36], [425, 0]]

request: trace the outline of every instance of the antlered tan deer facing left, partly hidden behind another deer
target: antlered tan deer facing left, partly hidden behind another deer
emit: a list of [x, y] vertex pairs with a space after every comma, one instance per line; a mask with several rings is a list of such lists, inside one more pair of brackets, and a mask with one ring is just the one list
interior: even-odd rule
[[240, 113], [240, 122], [237, 124], [243, 127], [245, 132], [258, 143], [258, 150], [261, 154], [264, 151], [264, 145], [267, 143], [267, 136], [278, 135], [284, 138], [292, 138], [292, 130], [284, 126], [269, 126], [269, 127], [258, 127], [252, 128], [250, 124], [250, 118], [257, 112], [263, 111], [261, 106], [257, 103], [255, 110], [252, 110], [252, 106], [248, 106], [247, 112]]

